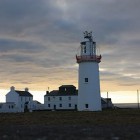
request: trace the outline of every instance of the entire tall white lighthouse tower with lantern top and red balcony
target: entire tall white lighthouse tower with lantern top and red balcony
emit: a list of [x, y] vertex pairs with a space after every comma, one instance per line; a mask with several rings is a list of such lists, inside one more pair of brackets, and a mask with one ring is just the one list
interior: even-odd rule
[[99, 65], [101, 55], [96, 54], [96, 42], [92, 32], [84, 32], [80, 55], [76, 55], [79, 64], [78, 111], [101, 111]]

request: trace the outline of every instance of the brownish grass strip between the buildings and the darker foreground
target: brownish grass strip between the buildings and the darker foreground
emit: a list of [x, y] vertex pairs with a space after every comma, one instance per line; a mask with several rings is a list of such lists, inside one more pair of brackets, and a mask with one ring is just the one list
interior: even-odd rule
[[102, 112], [40, 111], [2, 113], [0, 125], [140, 125], [139, 109], [103, 110]]

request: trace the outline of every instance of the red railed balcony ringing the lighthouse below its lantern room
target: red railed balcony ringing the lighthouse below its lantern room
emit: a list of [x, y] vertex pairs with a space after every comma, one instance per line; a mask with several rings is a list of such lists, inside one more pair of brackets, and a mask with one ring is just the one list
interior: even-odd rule
[[81, 63], [81, 62], [97, 62], [97, 63], [100, 63], [101, 58], [102, 58], [101, 55], [80, 55], [80, 56], [76, 55], [77, 63]]

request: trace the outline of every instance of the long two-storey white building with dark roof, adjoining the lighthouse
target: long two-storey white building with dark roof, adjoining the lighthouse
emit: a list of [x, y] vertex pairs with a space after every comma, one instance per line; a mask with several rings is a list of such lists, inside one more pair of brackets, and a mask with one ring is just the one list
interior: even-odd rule
[[44, 96], [46, 110], [77, 110], [78, 91], [73, 85], [62, 85]]

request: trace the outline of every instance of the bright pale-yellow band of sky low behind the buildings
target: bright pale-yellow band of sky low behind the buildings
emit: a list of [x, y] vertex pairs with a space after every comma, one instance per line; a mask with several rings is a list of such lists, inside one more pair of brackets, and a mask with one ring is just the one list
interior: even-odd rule
[[[24, 89], [15, 89], [15, 90], [24, 91]], [[58, 88], [52, 89], [52, 90], [58, 90]], [[6, 101], [5, 95], [9, 91], [10, 91], [10, 89], [9, 90], [0, 89], [0, 103]], [[45, 90], [44, 91], [32, 91], [29, 89], [29, 92], [33, 95], [33, 100], [37, 100], [41, 103], [44, 103], [44, 95], [46, 94]], [[101, 92], [100, 94], [101, 94], [102, 98], [107, 98], [107, 92]], [[116, 103], [138, 103], [137, 90], [136, 91], [115, 91], [115, 92], [109, 91], [108, 98], [111, 98], [111, 100], [114, 104], [116, 104]], [[140, 100], [140, 98], [139, 98], [139, 100]]]

